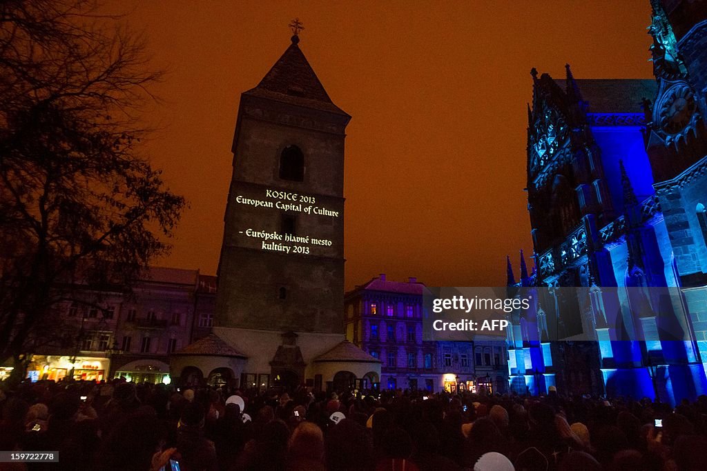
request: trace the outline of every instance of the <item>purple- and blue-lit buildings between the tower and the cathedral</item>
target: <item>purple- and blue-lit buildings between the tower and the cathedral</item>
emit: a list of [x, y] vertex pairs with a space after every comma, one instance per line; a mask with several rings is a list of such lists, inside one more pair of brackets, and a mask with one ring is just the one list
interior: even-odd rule
[[382, 362], [384, 389], [506, 389], [506, 349], [496, 342], [423, 340], [423, 289], [407, 282], [377, 278], [344, 297], [346, 339]]

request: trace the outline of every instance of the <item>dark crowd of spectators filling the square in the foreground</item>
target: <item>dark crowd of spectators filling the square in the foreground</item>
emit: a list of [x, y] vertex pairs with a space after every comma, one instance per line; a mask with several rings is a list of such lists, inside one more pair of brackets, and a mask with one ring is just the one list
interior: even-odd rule
[[707, 396], [344, 393], [37, 381], [0, 384], [0, 470], [703, 470]]

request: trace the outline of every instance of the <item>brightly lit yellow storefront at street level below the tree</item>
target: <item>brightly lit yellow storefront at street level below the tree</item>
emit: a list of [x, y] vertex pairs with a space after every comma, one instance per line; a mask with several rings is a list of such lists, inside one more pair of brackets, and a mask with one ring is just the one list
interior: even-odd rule
[[109, 369], [107, 358], [32, 355], [26, 377], [32, 381], [59, 381], [72, 375], [76, 381], [101, 381], [107, 379]]

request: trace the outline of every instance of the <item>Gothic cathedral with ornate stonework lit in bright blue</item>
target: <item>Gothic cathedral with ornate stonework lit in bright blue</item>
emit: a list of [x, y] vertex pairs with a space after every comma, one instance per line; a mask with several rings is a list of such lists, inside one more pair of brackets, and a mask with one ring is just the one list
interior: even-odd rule
[[[673, 404], [707, 393], [707, 2], [651, 4], [655, 79], [578, 80], [566, 66], [558, 81], [532, 70], [535, 266], [527, 273], [521, 258], [516, 281], [509, 260], [508, 285], [549, 290], [510, 318], [518, 392], [556, 386]], [[658, 305], [665, 287], [680, 289], [679, 302]], [[629, 315], [642, 303], [658, 314]], [[665, 319], [684, 335], [663, 340]], [[578, 331], [593, 341], [549, 341]]]

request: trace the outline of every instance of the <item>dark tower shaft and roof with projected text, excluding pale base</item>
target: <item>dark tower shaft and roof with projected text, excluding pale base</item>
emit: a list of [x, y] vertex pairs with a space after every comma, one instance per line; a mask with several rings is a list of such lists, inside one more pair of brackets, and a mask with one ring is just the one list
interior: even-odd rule
[[297, 35], [240, 98], [216, 326], [343, 333], [344, 130]]

